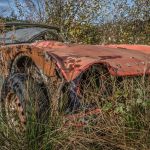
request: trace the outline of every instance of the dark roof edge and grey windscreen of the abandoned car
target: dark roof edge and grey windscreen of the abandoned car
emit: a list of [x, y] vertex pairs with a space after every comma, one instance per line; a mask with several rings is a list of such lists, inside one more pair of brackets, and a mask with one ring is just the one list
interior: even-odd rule
[[[1, 23], [0, 28], [8, 31], [0, 35], [0, 43], [4, 44], [28, 43], [32, 42], [31, 40], [34, 37], [47, 31], [60, 32], [60, 29], [56, 26], [20, 22]], [[11, 31], [8, 29], [11, 29]]]

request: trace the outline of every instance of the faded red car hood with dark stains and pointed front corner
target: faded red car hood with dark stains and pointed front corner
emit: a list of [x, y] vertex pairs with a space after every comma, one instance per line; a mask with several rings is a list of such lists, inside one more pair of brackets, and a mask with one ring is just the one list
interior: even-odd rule
[[32, 45], [54, 57], [68, 81], [75, 79], [93, 64], [106, 64], [113, 76], [150, 73], [150, 46], [76, 45], [54, 41], [43, 41]]

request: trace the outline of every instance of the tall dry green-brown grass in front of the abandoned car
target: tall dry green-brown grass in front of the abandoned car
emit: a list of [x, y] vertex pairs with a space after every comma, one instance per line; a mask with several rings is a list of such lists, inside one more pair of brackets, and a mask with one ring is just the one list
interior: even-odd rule
[[[104, 80], [100, 80], [102, 78]], [[40, 124], [39, 129], [44, 129], [41, 134], [36, 133], [40, 131], [36, 130], [38, 123], [34, 115], [28, 121], [27, 132], [19, 133], [1, 116], [0, 149], [150, 149], [149, 76], [117, 78], [108, 76], [105, 71], [90, 71], [81, 81], [82, 106], [74, 113], [86, 113], [92, 103], [101, 109], [98, 115], [91, 114], [69, 122], [65, 117], [67, 114], [57, 112], [49, 116], [47, 124]], [[79, 123], [84, 126], [78, 126]]]

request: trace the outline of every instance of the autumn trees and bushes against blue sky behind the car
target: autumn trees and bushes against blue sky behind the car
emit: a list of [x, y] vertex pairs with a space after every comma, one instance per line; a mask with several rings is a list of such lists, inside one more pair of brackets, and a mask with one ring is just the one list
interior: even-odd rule
[[13, 0], [7, 20], [59, 26], [88, 44], [150, 44], [150, 0]]

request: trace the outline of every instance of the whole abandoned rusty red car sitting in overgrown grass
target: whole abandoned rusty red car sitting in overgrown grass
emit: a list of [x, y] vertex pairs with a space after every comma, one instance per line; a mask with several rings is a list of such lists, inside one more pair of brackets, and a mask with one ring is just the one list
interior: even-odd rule
[[10, 124], [25, 125], [29, 108], [39, 120], [95, 110], [86, 90], [109, 96], [112, 77], [150, 74], [150, 46], [71, 44], [59, 28], [40, 24], [0, 29], [1, 109]]

